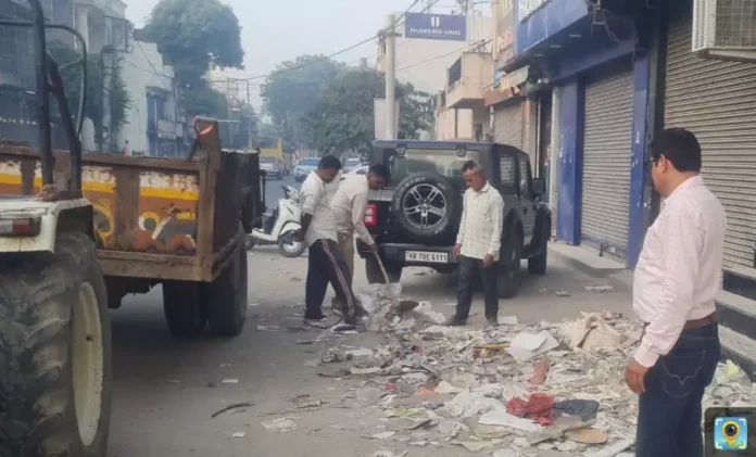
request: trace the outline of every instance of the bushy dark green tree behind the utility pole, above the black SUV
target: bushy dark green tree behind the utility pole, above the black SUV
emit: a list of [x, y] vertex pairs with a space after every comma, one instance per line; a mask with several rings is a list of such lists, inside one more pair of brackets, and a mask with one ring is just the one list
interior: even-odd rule
[[[374, 99], [382, 99], [386, 82], [374, 69], [349, 69], [329, 81], [315, 109], [304, 117], [311, 144], [320, 154], [369, 152], [375, 140]], [[396, 85], [399, 135], [418, 138], [433, 122], [430, 96], [410, 84]]]

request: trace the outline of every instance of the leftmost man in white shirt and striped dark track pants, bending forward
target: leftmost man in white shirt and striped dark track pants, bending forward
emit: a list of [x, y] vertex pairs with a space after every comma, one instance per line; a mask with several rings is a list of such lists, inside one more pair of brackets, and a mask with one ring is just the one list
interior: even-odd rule
[[326, 188], [336, 179], [340, 169], [341, 162], [338, 157], [324, 156], [317, 169], [307, 175], [300, 190], [302, 233], [305, 244], [310, 247], [304, 299], [304, 319], [310, 323], [319, 325], [325, 317], [323, 300], [326, 297], [329, 282], [336, 291], [336, 296], [344, 304], [345, 323], [355, 323], [355, 318], [362, 313], [348, 279], [349, 268], [339, 250], [336, 220], [330, 207], [332, 196], [328, 195]]

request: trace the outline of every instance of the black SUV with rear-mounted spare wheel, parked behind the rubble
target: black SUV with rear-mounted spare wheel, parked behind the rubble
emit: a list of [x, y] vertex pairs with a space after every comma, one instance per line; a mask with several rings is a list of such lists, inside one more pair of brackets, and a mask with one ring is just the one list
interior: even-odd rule
[[[542, 179], [533, 179], [528, 154], [506, 144], [456, 141], [375, 141], [371, 163], [382, 163], [391, 180], [370, 191], [365, 225], [378, 244], [389, 279], [398, 282], [404, 267], [456, 271], [453, 254], [466, 185], [462, 165], [482, 165], [491, 186], [504, 199], [500, 295], [517, 294], [520, 259], [533, 275], [546, 271], [546, 243], [552, 216], [539, 202]], [[385, 282], [377, 262], [357, 241], [370, 283]]]

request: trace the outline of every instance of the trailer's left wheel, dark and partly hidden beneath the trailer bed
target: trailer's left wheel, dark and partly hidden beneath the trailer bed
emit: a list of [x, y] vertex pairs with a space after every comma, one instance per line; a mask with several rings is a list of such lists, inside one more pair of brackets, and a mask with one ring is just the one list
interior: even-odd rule
[[196, 338], [204, 331], [207, 313], [201, 292], [201, 282], [163, 281], [163, 312], [173, 338]]

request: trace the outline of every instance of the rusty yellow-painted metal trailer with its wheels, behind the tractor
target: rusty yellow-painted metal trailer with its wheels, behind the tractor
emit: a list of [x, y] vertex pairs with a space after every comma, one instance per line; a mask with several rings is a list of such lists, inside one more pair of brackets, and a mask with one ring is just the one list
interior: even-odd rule
[[[264, 186], [256, 154], [223, 151], [217, 124], [199, 119], [196, 157], [88, 153], [81, 191], [93, 208], [109, 306], [162, 283], [175, 337], [238, 334], [247, 312], [245, 233], [260, 223]], [[71, 179], [71, 154], [54, 152], [54, 180]], [[36, 150], [0, 144], [0, 194], [41, 189]]]

